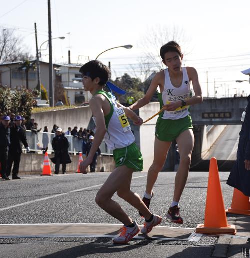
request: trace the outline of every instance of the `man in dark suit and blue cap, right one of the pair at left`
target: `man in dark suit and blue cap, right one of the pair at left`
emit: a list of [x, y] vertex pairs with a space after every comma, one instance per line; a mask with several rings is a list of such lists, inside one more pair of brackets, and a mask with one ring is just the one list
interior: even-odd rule
[[7, 160], [7, 177], [10, 176], [12, 164], [14, 163], [12, 170], [12, 179], [20, 179], [18, 176], [19, 165], [21, 160], [22, 153], [22, 143], [26, 148], [27, 152], [30, 151], [26, 139], [26, 132], [21, 126], [22, 117], [16, 116], [14, 118], [14, 124], [10, 127], [10, 146], [8, 151], [8, 160]]

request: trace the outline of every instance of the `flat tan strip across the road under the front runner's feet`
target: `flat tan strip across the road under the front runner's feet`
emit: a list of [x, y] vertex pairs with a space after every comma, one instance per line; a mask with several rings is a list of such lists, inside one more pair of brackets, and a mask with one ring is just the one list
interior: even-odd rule
[[[94, 237], [113, 238], [122, 224], [0, 224], [0, 238], [41, 238], [41, 237]], [[143, 227], [143, 225], [140, 225]], [[148, 235], [139, 234], [135, 239], [178, 240], [197, 242], [202, 234], [194, 228], [156, 226]]]

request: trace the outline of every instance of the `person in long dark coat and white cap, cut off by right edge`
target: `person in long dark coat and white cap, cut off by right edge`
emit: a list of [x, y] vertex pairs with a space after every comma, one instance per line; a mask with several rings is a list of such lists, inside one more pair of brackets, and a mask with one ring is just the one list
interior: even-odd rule
[[[250, 75], [250, 68], [242, 73]], [[250, 196], [250, 95], [247, 97], [247, 102], [241, 117], [242, 127], [239, 133], [237, 159], [226, 183], [237, 188], [244, 195]]]

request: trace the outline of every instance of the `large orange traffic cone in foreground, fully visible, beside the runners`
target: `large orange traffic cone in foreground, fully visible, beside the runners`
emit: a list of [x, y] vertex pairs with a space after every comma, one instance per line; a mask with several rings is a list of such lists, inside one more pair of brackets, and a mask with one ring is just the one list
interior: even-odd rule
[[236, 234], [235, 225], [227, 224], [218, 165], [214, 157], [211, 158], [209, 166], [205, 221], [204, 224], [198, 224], [196, 233]]

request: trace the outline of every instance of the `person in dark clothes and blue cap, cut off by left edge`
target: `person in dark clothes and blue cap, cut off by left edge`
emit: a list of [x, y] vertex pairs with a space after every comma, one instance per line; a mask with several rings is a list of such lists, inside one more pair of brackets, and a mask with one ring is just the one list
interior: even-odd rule
[[10, 117], [3, 116], [0, 123], [0, 163], [1, 177], [5, 180], [9, 180], [6, 175], [8, 147], [10, 145], [10, 129], [9, 129]]

